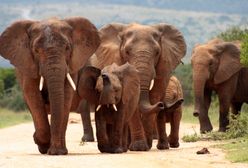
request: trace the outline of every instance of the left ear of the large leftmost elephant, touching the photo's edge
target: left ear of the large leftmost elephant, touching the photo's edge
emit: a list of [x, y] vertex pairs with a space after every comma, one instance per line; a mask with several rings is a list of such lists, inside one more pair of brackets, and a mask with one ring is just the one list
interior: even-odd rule
[[14, 22], [0, 36], [0, 55], [8, 59], [22, 74], [38, 77], [38, 66], [30, 50], [28, 29], [35, 23], [30, 20]]

